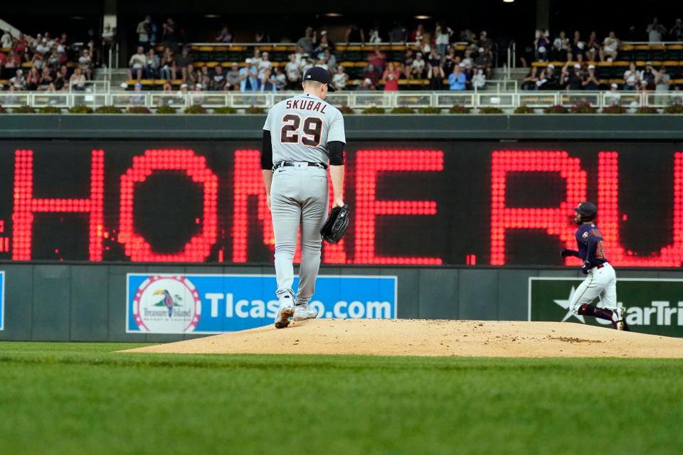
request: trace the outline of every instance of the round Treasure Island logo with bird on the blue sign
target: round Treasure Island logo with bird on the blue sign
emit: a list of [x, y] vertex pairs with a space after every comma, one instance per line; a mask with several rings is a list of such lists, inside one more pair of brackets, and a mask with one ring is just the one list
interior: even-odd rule
[[186, 277], [149, 277], [135, 291], [133, 317], [142, 331], [191, 332], [201, 318], [201, 299]]

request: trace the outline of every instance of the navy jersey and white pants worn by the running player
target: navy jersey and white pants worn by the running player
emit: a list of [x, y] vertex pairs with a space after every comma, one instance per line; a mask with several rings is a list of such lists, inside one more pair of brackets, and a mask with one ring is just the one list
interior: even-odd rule
[[576, 314], [581, 314], [583, 304], [590, 304], [600, 298], [601, 306], [610, 311], [617, 308], [617, 277], [614, 269], [605, 258], [603, 235], [593, 223], [581, 225], [576, 230], [578, 252], [573, 256], [583, 261], [582, 270], [588, 274], [583, 283], [576, 289], [569, 308]]

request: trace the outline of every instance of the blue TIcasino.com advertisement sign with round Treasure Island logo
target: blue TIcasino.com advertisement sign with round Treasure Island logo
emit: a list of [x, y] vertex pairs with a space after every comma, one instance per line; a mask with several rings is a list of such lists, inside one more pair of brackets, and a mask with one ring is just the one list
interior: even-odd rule
[[[294, 287], [297, 288], [298, 279]], [[275, 319], [275, 275], [128, 274], [127, 333], [223, 333]], [[396, 277], [318, 277], [319, 318], [396, 318]]]

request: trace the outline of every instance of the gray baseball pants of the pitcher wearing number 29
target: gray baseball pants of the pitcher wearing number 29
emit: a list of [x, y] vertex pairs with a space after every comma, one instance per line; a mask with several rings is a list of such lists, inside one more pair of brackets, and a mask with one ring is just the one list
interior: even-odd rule
[[307, 304], [315, 291], [322, 236], [327, 218], [327, 171], [307, 163], [282, 166], [272, 175], [270, 212], [275, 233], [275, 275], [278, 297], [294, 295], [294, 255], [301, 228], [301, 265], [296, 303]]

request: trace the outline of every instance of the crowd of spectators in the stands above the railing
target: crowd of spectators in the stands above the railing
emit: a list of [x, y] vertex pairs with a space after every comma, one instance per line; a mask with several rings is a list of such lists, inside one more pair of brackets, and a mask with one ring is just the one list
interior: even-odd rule
[[[135, 33], [137, 45], [127, 60], [129, 83], [125, 87], [138, 90], [141, 86], [167, 91], [295, 90], [305, 70], [313, 65], [332, 73], [337, 90], [394, 91], [399, 85], [413, 90], [482, 90], [491, 77], [497, 53], [486, 31], [478, 35], [469, 29], [456, 33], [445, 23], [435, 23], [429, 31], [422, 23], [409, 30], [394, 22], [387, 31], [378, 23], [367, 30], [351, 24], [344, 33], [337, 33], [343, 36], [341, 43], [333, 43], [324, 28], [307, 27], [297, 41], [287, 43], [287, 53], [280, 50], [273, 52], [275, 55], [259, 49], [264, 46], [258, 43], [270, 41], [268, 32], [255, 31], [253, 43], [243, 46], [248, 55], [242, 53], [239, 59], [235, 54], [223, 59], [206, 57], [197, 46], [184, 45], [184, 30], [173, 18], [157, 23], [146, 16], [137, 23]], [[115, 31], [105, 28], [105, 48], [114, 35]], [[654, 18], [643, 31], [630, 28], [627, 38], [647, 38], [650, 43], [683, 41], [683, 21], [677, 19], [667, 29]], [[233, 41], [228, 26], [216, 31], [217, 46]], [[354, 44], [361, 51], [351, 55], [349, 49]], [[0, 90], [85, 90], [97, 65], [97, 50], [93, 40], [73, 45], [65, 33], [59, 37], [45, 32], [35, 38], [15, 38], [4, 32], [0, 37]], [[623, 53], [614, 31], [599, 39], [595, 31], [588, 38], [575, 31], [569, 38], [564, 31], [551, 37], [539, 30], [525, 51], [521, 64], [530, 68], [521, 83], [523, 90], [677, 90], [665, 65], [649, 60], [637, 65], [633, 55]], [[630, 64], [629, 68], [605, 77], [603, 65], [618, 60], [628, 60], [623, 64]]]

